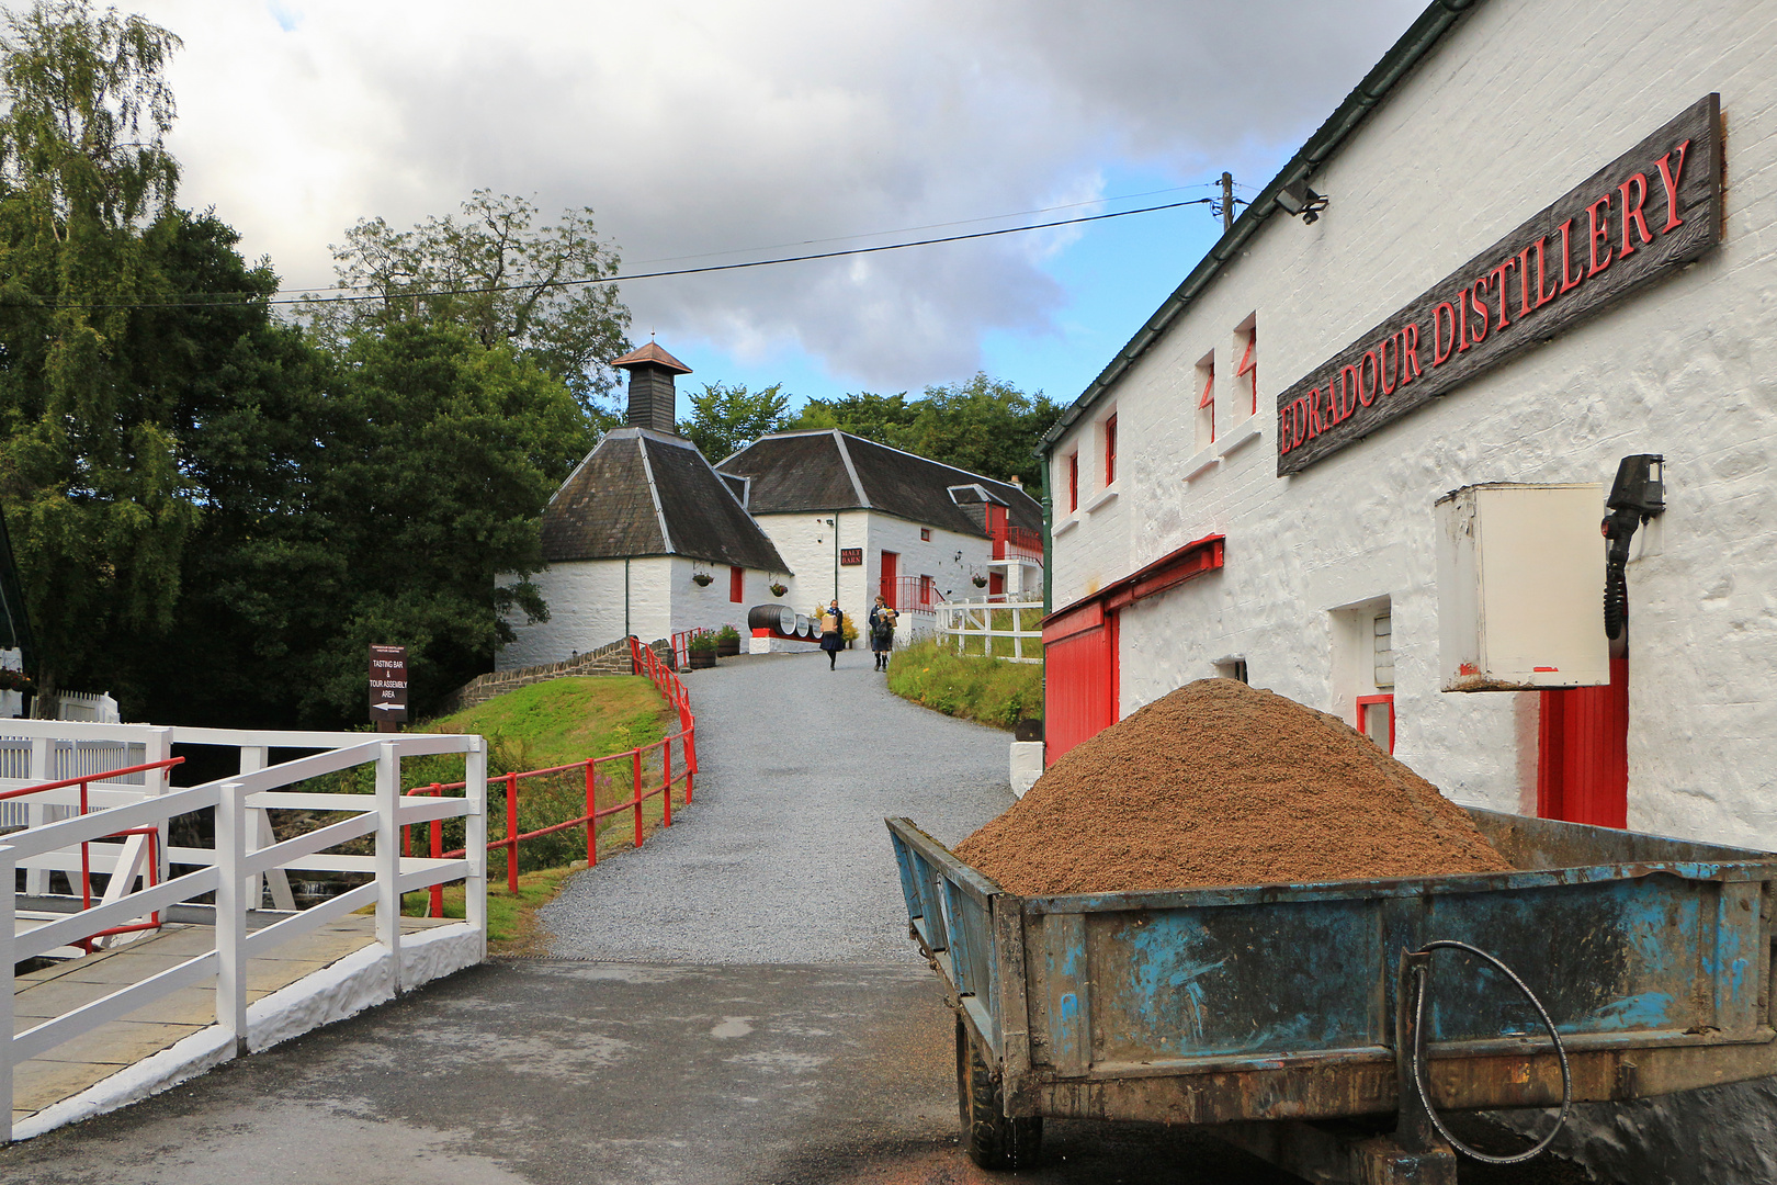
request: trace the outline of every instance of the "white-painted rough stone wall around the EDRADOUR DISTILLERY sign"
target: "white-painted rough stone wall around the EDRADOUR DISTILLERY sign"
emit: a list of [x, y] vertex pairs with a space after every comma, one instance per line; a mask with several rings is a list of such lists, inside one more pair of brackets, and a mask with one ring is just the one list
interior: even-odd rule
[[[1534, 791], [1535, 696], [1438, 691], [1432, 503], [1477, 481], [1608, 487], [1621, 457], [1663, 453], [1669, 510], [1630, 565], [1630, 826], [1777, 847], [1773, 59], [1777, 23], [1747, 5], [1489, 0], [1397, 87], [1313, 178], [1324, 217], [1274, 217], [1054, 449], [1056, 606], [1228, 537], [1223, 572], [1125, 611], [1125, 714], [1221, 657], [1331, 711], [1345, 696], [1329, 611], [1386, 597], [1397, 755], [1459, 801], [1518, 810]], [[1720, 247], [1276, 476], [1278, 391], [1709, 91], [1727, 123]], [[1223, 378], [1255, 313], [1260, 437], [1205, 455], [1196, 364], [1215, 354], [1219, 437], [1239, 441], [1244, 409]], [[1112, 402], [1118, 497], [1088, 512]], [[1073, 448], [1082, 510], [1068, 515]]]

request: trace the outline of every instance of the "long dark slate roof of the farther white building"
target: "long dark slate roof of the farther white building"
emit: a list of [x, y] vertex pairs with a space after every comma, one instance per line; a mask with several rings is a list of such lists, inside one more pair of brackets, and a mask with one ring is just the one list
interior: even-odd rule
[[1006, 505], [1013, 526], [1043, 529], [1043, 508], [1009, 481], [839, 430], [761, 437], [723, 460], [721, 473], [752, 478], [753, 513], [880, 510], [947, 531], [986, 535], [983, 505], [958, 505], [951, 497], [952, 485], [979, 485]]

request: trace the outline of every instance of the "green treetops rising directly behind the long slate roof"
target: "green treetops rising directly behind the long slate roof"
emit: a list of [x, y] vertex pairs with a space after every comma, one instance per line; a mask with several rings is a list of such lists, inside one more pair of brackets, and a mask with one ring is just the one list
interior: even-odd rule
[[1031, 483], [1041, 476], [1032, 449], [1059, 414], [1041, 391], [1025, 394], [977, 373], [963, 384], [926, 387], [915, 400], [904, 391], [809, 400], [789, 426], [839, 428], [988, 478]]

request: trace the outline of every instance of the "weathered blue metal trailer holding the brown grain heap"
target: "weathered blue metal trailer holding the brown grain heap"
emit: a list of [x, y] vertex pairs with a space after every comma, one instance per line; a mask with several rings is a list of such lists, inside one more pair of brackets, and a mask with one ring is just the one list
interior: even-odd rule
[[[1518, 871], [1059, 897], [1004, 892], [888, 819], [912, 936], [958, 1014], [970, 1155], [1027, 1162], [1043, 1116], [1143, 1119], [1223, 1125], [1315, 1180], [1454, 1181], [1436, 1110], [1777, 1073], [1777, 856], [1470, 814]], [[1439, 952], [1432, 984], [1429, 943], [1493, 952], [1558, 1041], [1466, 950]], [[1363, 1116], [1398, 1126], [1327, 1123]]]

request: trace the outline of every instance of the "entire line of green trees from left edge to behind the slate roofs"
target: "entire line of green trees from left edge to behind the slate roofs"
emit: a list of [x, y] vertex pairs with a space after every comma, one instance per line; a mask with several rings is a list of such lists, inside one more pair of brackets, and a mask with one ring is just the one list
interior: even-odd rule
[[[286, 311], [270, 259], [178, 204], [178, 48], [87, 0], [4, 18], [0, 508], [32, 675], [126, 720], [338, 727], [368, 645], [398, 643], [425, 711], [492, 666], [506, 613], [547, 616], [496, 576], [540, 569], [544, 505], [618, 423], [617, 249], [590, 210], [478, 190], [350, 227], [338, 295]], [[734, 432], [841, 426], [1029, 480], [1056, 412], [984, 375], [785, 407], [713, 384], [686, 432], [720, 460]]]

